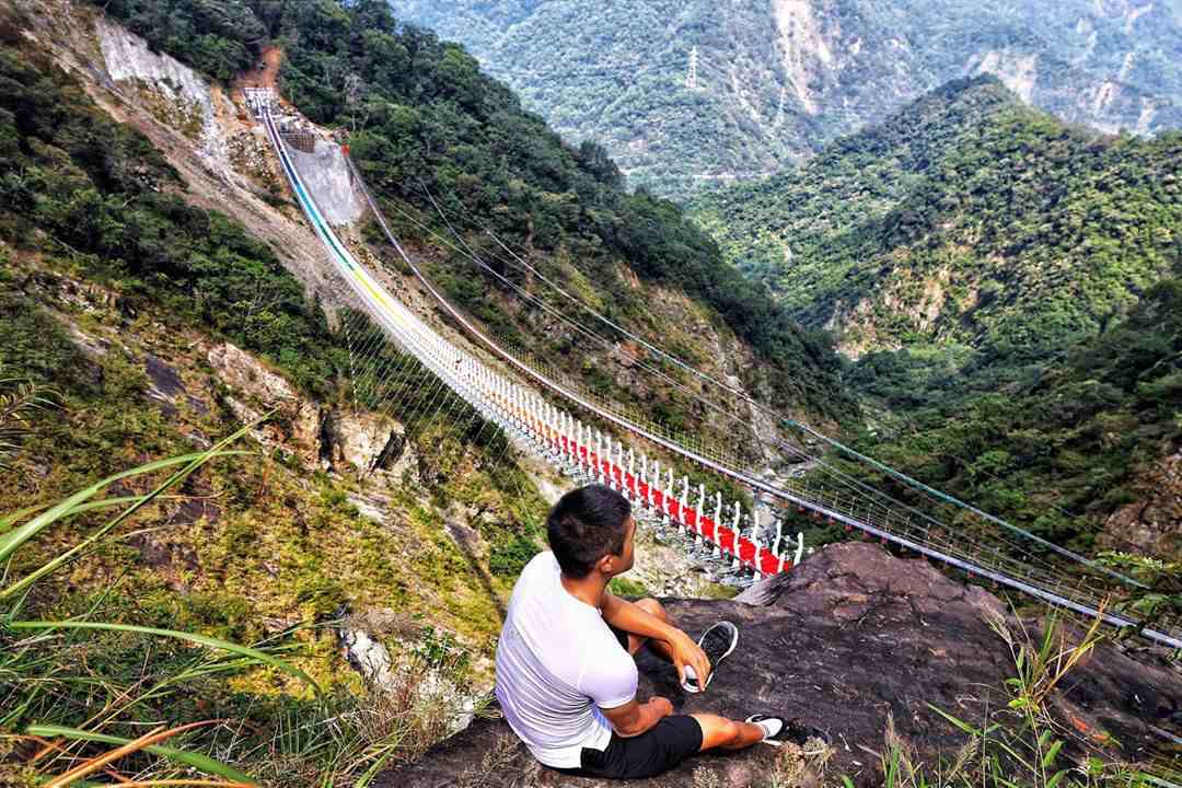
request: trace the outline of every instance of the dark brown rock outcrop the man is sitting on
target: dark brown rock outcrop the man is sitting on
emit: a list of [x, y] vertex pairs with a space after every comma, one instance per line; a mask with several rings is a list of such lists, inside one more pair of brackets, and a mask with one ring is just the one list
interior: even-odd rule
[[[1013, 671], [1009, 651], [985, 619], [1000, 614], [1004, 605], [922, 560], [896, 559], [877, 546], [829, 547], [797, 572], [760, 584], [740, 599], [665, 600], [665, 606], [691, 634], [719, 619], [734, 621], [741, 632], [739, 649], [709, 691], [691, 697], [680, 690], [669, 665], [642, 652], [637, 659], [642, 698], [663, 695], [681, 712], [741, 718], [771, 711], [799, 717], [830, 735], [834, 753], [829, 774], [847, 774], [858, 784], [881, 783], [877, 758], [866, 749], [883, 749], [888, 714], [920, 755], [930, 757], [959, 748], [965, 738], [929, 703], [979, 722], [986, 702], [996, 708], [1008, 699], [1002, 682]], [[1072, 677], [1056, 691], [1056, 712], [1084, 737], [1100, 731], [1115, 736], [1123, 744], [1123, 758], [1149, 755], [1161, 741], [1151, 727], [1176, 727], [1170, 719], [1182, 703], [1182, 677], [1164, 666], [1136, 662], [1103, 645]], [[762, 745], [732, 755], [700, 755], [671, 773], [629, 784], [766, 786], [779, 755]], [[613, 784], [541, 768], [501, 719], [475, 722], [375, 784], [469, 783]]]

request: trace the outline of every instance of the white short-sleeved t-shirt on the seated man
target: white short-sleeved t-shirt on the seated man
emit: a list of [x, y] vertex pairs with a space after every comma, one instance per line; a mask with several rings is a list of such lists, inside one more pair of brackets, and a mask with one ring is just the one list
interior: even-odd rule
[[636, 697], [636, 663], [598, 607], [572, 597], [558, 560], [521, 571], [496, 645], [496, 699], [513, 731], [546, 766], [574, 769], [584, 747], [608, 748], [599, 711]]

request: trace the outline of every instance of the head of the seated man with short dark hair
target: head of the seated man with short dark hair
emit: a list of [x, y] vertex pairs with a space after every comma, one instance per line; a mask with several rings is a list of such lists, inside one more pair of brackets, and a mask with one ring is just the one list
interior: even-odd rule
[[563, 574], [585, 578], [604, 555], [622, 554], [631, 515], [628, 499], [603, 484], [587, 484], [560, 497], [546, 517], [546, 538]]

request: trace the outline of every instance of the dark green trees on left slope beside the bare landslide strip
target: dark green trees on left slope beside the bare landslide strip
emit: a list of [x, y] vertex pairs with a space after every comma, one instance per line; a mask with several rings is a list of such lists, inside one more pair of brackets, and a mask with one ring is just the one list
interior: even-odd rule
[[[8, 46], [0, 69], [4, 239], [72, 254], [90, 276], [118, 280], [128, 310], [163, 302], [271, 358], [309, 393], [331, 391], [342, 349], [269, 248], [174, 194], [163, 156], [50, 61]], [[266, 310], [249, 308], [260, 300]]]

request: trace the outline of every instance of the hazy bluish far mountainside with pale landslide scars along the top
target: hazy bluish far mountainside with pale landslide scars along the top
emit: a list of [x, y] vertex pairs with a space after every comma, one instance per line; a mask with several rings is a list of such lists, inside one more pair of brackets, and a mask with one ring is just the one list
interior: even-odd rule
[[1182, 14], [1163, 1], [391, 5], [469, 46], [567, 138], [603, 143], [631, 183], [675, 197], [778, 171], [962, 76], [996, 74], [1112, 132], [1182, 125]]

